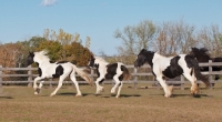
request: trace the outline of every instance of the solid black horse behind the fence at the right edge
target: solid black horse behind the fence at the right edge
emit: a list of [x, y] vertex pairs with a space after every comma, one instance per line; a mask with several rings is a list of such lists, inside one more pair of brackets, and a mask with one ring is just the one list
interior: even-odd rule
[[[190, 54], [192, 54], [200, 63], [209, 62], [209, 60], [212, 60], [212, 62], [222, 62], [222, 58], [211, 58], [208, 53], [208, 49], [205, 48], [191, 48]], [[221, 71], [222, 67], [212, 67], [212, 71]], [[201, 71], [209, 71], [209, 67], [201, 67]], [[215, 74], [214, 80], [219, 80], [219, 74]], [[214, 84], [212, 84], [214, 85]]]

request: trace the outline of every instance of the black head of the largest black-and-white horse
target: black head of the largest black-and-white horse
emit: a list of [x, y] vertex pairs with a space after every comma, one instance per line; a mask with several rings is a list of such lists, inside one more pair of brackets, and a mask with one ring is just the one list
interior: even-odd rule
[[147, 50], [145, 49], [142, 49], [140, 51], [140, 53], [138, 54], [138, 58], [134, 62], [134, 67], [138, 68], [138, 67], [142, 67], [145, 62], [147, 62], [147, 57], [145, 57], [145, 52]]

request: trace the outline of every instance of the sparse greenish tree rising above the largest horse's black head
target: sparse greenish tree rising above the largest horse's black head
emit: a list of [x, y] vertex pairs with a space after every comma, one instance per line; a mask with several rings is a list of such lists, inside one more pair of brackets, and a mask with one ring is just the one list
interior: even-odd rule
[[155, 24], [152, 21], [141, 21], [138, 26], [127, 26], [123, 31], [115, 30], [114, 37], [121, 39], [123, 44], [118, 47], [120, 54], [138, 53], [141, 49], [148, 49], [155, 33]]

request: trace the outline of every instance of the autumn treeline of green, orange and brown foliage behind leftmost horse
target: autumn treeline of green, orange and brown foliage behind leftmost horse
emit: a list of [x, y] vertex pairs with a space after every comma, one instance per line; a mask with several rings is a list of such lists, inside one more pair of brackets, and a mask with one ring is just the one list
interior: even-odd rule
[[90, 38], [82, 45], [80, 34], [70, 34], [62, 29], [59, 32], [46, 29], [43, 37], [32, 37], [30, 40], [0, 44], [0, 64], [3, 68], [27, 67], [30, 51], [48, 50], [52, 61], [70, 61], [79, 67], [88, 63], [90, 55]]

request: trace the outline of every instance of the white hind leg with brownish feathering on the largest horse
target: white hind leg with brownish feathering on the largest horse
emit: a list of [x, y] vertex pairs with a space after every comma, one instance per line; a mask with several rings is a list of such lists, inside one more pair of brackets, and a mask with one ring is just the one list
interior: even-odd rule
[[190, 73], [188, 74], [188, 73], [185, 73], [185, 74], [183, 74], [190, 82], [191, 82], [191, 94], [192, 95], [195, 95], [195, 94], [198, 94], [199, 93], [199, 87], [198, 87], [198, 84], [196, 84], [196, 78], [194, 78], [194, 77], [192, 77], [192, 75], [190, 75]]

